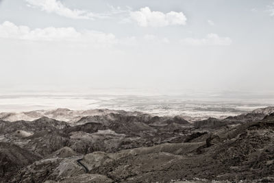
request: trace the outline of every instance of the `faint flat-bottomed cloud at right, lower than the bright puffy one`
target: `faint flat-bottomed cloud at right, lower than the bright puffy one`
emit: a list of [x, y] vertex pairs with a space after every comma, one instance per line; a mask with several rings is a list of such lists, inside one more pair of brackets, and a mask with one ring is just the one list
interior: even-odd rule
[[208, 34], [206, 38], [185, 38], [181, 40], [184, 45], [197, 45], [197, 46], [228, 46], [232, 44], [231, 38], [222, 38], [217, 34]]

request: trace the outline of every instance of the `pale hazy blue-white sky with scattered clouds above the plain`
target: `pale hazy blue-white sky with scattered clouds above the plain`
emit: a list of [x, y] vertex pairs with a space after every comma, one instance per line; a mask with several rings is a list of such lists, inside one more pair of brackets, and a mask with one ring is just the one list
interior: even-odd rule
[[273, 0], [0, 1], [0, 93], [269, 94], [273, 48]]

